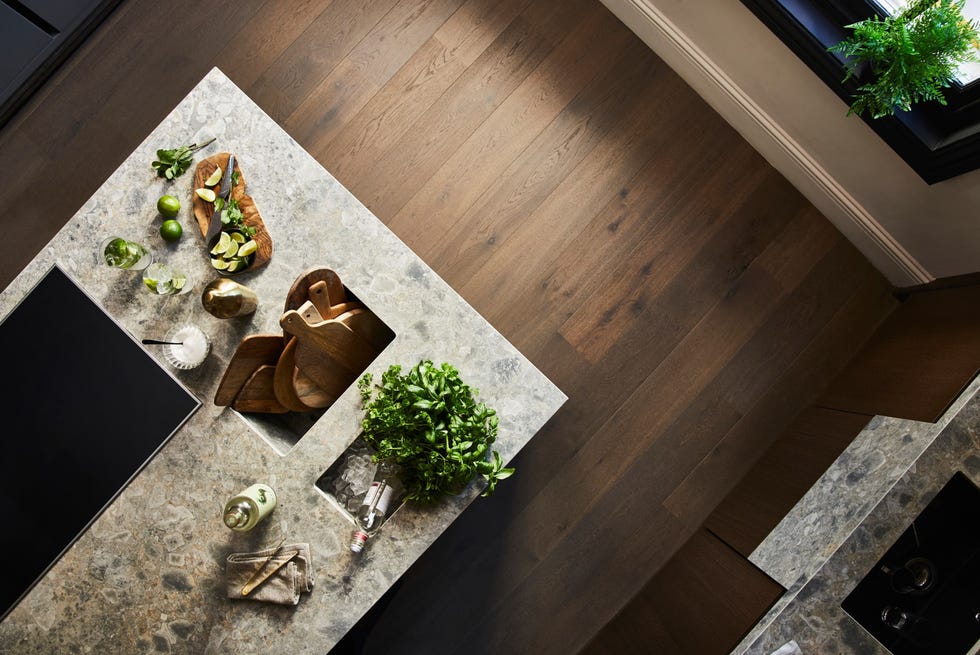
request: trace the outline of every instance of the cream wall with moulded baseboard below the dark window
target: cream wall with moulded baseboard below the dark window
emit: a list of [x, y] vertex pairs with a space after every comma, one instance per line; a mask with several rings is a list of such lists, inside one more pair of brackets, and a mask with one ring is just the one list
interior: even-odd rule
[[739, 0], [602, 0], [897, 286], [980, 271], [980, 171], [928, 185]]

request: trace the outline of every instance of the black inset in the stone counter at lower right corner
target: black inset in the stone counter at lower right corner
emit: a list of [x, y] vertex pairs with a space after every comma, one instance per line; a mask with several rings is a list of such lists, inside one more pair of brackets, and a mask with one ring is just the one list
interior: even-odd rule
[[980, 641], [980, 489], [957, 472], [841, 607], [894, 655]]

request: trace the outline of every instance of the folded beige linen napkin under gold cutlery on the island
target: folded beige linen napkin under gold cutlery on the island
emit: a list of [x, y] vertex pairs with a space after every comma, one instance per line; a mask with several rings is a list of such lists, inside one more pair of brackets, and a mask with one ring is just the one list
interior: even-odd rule
[[[293, 555], [294, 551], [298, 552]], [[273, 554], [275, 557], [269, 559]], [[248, 584], [260, 569], [270, 571], [286, 560], [289, 561], [280, 566], [262, 584], [247, 596], [242, 596], [242, 587]], [[310, 545], [286, 544], [278, 550], [267, 548], [254, 553], [232, 553], [225, 563], [225, 583], [228, 598], [298, 605], [300, 594], [313, 590], [313, 560], [310, 556]]]

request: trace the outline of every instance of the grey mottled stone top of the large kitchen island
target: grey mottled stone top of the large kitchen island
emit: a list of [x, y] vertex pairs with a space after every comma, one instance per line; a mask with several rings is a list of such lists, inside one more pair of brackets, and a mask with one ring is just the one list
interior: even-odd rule
[[[217, 141], [195, 161], [235, 153], [275, 244], [268, 266], [235, 278], [257, 292], [258, 311], [230, 320], [212, 317], [200, 302], [216, 276], [190, 215], [191, 172], [170, 183], [150, 168], [157, 148], [211, 136]], [[164, 193], [183, 205], [185, 232], [176, 244], [157, 234], [156, 199]], [[156, 297], [139, 273], [102, 265], [97, 246], [113, 235], [151, 245], [159, 259], [187, 272], [192, 291]], [[0, 294], [0, 317], [55, 263], [135, 338], [162, 338], [172, 326], [194, 323], [210, 335], [212, 352], [202, 367], [175, 371], [203, 406], [0, 624], [0, 653], [323, 655], [479, 494], [473, 484], [434, 507], [403, 506], [372, 539], [345, 591], [352, 524], [314, 484], [359, 432], [356, 387], [293, 447], [263, 438], [240, 414], [212, 403], [239, 341], [281, 331], [286, 292], [311, 267], [337, 271], [395, 332], [368, 371], [421, 359], [452, 363], [497, 410], [495, 447], [505, 460], [566, 399], [217, 69]], [[159, 349], [150, 354], [166, 366]], [[275, 512], [250, 533], [228, 530], [220, 516], [225, 500], [260, 481], [279, 496]], [[313, 592], [296, 607], [226, 599], [227, 555], [274, 542], [281, 530], [311, 544]]]

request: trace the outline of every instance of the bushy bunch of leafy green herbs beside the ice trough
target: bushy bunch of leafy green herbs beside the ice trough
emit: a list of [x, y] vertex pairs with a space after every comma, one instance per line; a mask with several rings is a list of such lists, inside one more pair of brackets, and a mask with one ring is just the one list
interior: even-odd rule
[[393, 365], [380, 385], [372, 381], [366, 373], [357, 383], [366, 410], [364, 440], [377, 461], [401, 466], [408, 500], [432, 503], [457, 494], [477, 474], [486, 479], [483, 495], [489, 496], [514, 473], [490, 449], [497, 413], [476, 402], [476, 390], [454, 367], [425, 360], [402, 375], [401, 366]]

